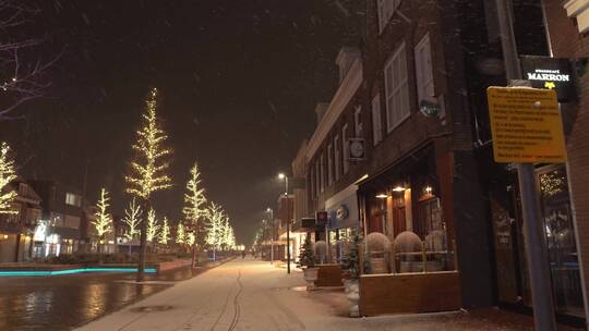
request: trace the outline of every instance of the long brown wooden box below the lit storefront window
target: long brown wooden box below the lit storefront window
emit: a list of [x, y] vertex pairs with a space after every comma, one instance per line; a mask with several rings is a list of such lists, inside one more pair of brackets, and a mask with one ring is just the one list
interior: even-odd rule
[[363, 274], [360, 314], [417, 314], [460, 309], [457, 271]]

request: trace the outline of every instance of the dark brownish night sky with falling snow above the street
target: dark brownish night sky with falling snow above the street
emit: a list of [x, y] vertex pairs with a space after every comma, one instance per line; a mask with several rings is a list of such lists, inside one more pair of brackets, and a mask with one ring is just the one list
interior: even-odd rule
[[276, 205], [276, 174], [312, 134], [314, 105], [337, 87], [337, 51], [360, 45], [357, 2], [38, 1], [24, 30], [46, 41], [31, 57], [62, 54], [46, 73], [47, 98], [20, 109], [25, 121], [0, 123], [0, 139], [25, 177], [82, 188], [87, 166], [91, 201], [105, 186], [121, 214], [131, 144], [156, 86], [176, 184], [156, 194], [156, 210], [178, 220], [197, 161], [207, 196], [248, 243]]

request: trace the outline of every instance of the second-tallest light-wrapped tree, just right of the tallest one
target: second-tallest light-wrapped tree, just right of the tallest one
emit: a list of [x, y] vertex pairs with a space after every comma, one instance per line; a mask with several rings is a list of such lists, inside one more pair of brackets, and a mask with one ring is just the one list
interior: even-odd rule
[[190, 170], [190, 179], [187, 183], [187, 192], [184, 193], [184, 219], [189, 224], [189, 233], [194, 236], [192, 241], [192, 263], [196, 260], [196, 244], [200, 238], [204, 238], [205, 224], [203, 220], [207, 217], [208, 208], [206, 207], [206, 197], [204, 188], [201, 184], [201, 173], [199, 166], [194, 163]]

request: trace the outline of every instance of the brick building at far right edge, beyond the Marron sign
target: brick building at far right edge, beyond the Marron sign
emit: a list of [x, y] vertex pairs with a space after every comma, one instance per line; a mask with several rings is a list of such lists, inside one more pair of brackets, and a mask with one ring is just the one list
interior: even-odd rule
[[[576, 230], [578, 258], [581, 266], [585, 316], [588, 312], [589, 289], [589, 58], [587, 0], [544, 0], [546, 33], [551, 56], [570, 59], [576, 64], [578, 99], [562, 105], [562, 114], [567, 134], [568, 163], [564, 173], [568, 174], [572, 203], [573, 230]], [[580, 292], [581, 289], [577, 289]], [[582, 303], [578, 306], [582, 307]], [[580, 308], [578, 308], [580, 309]]]

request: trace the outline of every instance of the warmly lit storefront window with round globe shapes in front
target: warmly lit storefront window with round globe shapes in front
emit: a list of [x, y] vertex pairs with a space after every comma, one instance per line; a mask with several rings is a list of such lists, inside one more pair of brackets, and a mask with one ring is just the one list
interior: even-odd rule
[[[384, 258], [394, 273], [455, 270], [454, 245], [448, 243], [442, 201], [430, 177], [410, 176], [374, 197], [368, 206], [369, 233], [384, 234], [393, 247], [384, 256], [366, 247], [368, 266], [376, 266]], [[368, 269], [373, 269], [371, 273], [384, 270]]]

